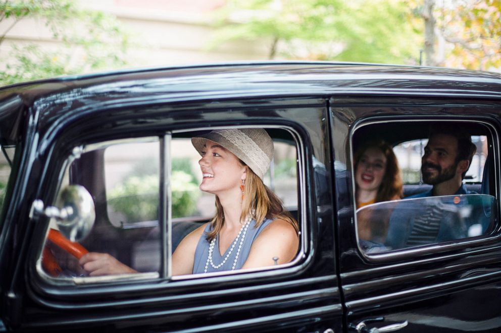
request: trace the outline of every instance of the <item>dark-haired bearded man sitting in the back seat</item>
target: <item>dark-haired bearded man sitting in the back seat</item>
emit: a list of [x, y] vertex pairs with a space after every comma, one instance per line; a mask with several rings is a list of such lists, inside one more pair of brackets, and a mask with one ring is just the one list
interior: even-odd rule
[[[467, 237], [469, 222], [458, 217], [459, 195], [470, 194], [463, 179], [476, 147], [461, 128], [433, 126], [421, 159], [423, 181], [433, 187], [406, 197], [391, 215], [387, 249], [419, 246]], [[423, 199], [440, 196], [440, 198]], [[418, 199], [421, 198], [421, 199]]]

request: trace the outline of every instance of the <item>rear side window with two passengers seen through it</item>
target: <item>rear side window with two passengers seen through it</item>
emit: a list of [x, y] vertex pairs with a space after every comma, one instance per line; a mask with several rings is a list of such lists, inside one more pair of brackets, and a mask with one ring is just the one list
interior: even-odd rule
[[379, 253], [498, 229], [497, 134], [480, 122], [366, 124], [352, 137], [357, 237]]

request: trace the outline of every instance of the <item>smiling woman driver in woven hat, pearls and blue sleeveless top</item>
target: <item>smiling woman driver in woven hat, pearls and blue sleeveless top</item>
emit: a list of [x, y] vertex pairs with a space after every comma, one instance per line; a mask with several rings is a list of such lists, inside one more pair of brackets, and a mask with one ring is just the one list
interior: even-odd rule
[[[218, 129], [191, 139], [202, 158], [200, 189], [216, 195], [216, 216], [172, 255], [173, 275], [287, 263], [297, 253], [297, 222], [264, 183], [273, 141], [264, 129]], [[106, 253], [80, 259], [90, 276], [134, 273]]]

